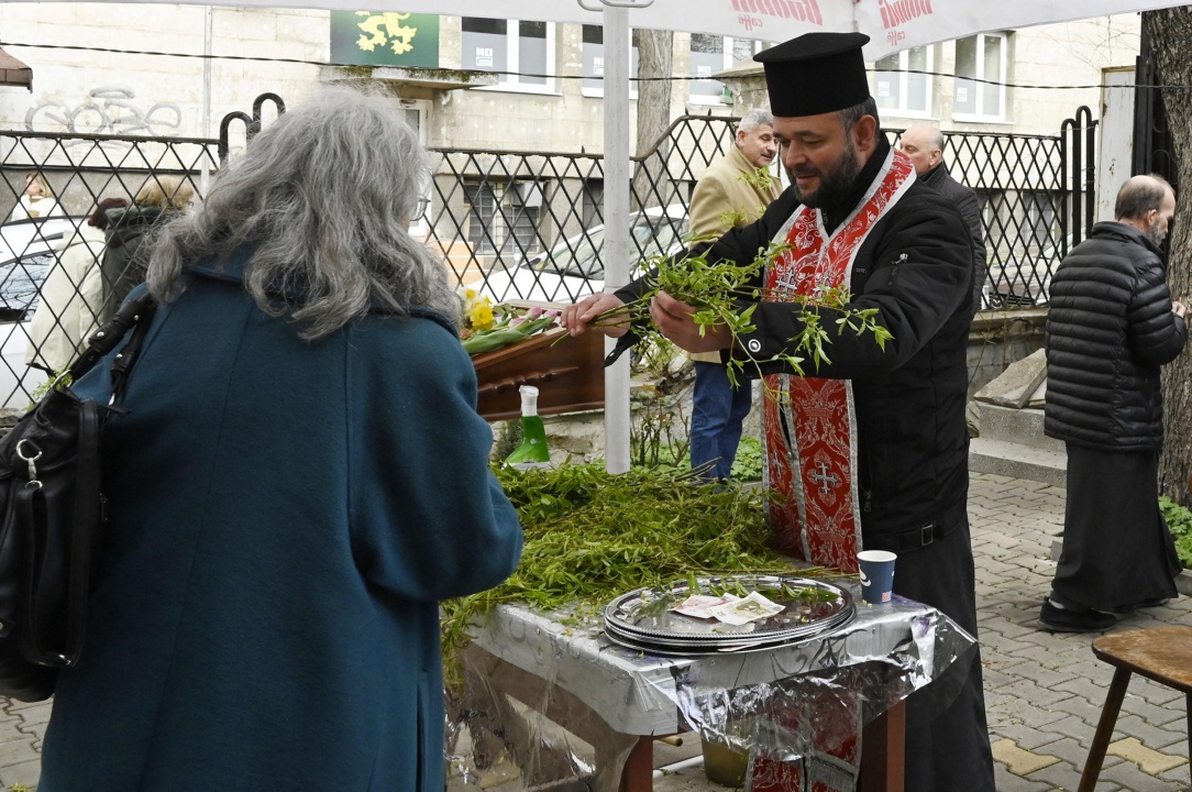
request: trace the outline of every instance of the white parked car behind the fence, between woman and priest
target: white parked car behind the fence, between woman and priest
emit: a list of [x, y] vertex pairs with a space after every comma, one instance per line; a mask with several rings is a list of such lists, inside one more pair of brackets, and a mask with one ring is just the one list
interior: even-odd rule
[[[683, 249], [688, 230], [682, 204], [653, 206], [629, 216], [629, 277], [641, 272], [641, 262], [654, 255]], [[604, 287], [604, 227], [567, 237], [550, 250], [510, 267], [490, 272], [480, 293], [493, 302], [527, 299], [573, 303]]]

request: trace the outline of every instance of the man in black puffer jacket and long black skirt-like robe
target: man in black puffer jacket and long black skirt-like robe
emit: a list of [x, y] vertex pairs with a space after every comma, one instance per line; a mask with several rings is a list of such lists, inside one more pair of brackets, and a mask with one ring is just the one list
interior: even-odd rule
[[1098, 223], [1051, 280], [1044, 432], [1068, 448], [1063, 552], [1039, 621], [1105, 630], [1110, 611], [1177, 596], [1180, 571], [1159, 512], [1163, 400], [1159, 367], [1187, 340], [1160, 246], [1175, 194], [1159, 177], [1118, 192], [1117, 222]]

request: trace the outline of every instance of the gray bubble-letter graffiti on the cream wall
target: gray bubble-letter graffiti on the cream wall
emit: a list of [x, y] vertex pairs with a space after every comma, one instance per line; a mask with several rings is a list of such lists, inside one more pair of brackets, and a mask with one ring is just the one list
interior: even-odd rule
[[142, 109], [134, 101], [136, 93], [120, 86], [99, 86], [87, 98], [69, 107], [57, 101], [43, 101], [25, 113], [25, 129], [31, 132], [79, 132], [97, 135], [178, 135], [182, 126], [181, 109], [170, 103], [156, 103]]

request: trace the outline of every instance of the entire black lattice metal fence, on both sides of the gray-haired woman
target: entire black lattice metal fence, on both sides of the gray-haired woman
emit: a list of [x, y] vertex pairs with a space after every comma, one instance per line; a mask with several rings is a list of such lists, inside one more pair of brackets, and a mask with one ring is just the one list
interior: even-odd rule
[[[284, 110], [280, 99], [262, 99]], [[235, 115], [244, 142], [260, 129], [260, 101], [252, 117]], [[1091, 224], [1093, 122], [1087, 109], [1081, 112], [1054, 137], [946, 135], [954, 175], [983, 202], [993, 307], [1045, 301], [1051, 271]], [[682, 247], [695, 182], [733, 144], [735, 122], [684, 116], [634, 159], [635, 260]], [[229, 140], [235, 126], [225, 123], [218, 141], [0, 131], [0, 217], [7, 218], [0, 237], [0, 407], [24, 408], [46, 370], [63, 367], [46, 360], [54, 355], [46, 333], [33, 329], [38, 311], [54, 342], [69, 346], [86, 339], [111, 303], [112, 284], [100, 278], [97, 285], [94, 277], [103, 270], [103, 235], [86, 222], [97, 203], [131, 202], [154, 185], [174, 197], [193, 190], [200, 200], [236, 148]], [[898, 132], [888, 134], [896, 142]], [[601, 156], [496, 149], [433, 149], [432, 156], [430, 210], [412, 230], [442, 253], [459, 284], [497, 302], [573, 301], [603, 286]], [[21, 204], [31, 175], [44, 178], [52, 196], [26, 199], [24, 206], [41, 208], [32, 212]]]

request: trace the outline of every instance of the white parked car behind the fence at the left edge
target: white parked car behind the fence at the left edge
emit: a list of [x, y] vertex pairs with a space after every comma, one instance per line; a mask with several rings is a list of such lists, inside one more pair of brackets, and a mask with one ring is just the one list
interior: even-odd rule
[[0, 406], [24, 408], [46, 372], [25, 364], [29, 322], [58, 250], [86, 217], [44, 217], [0, 225]]

